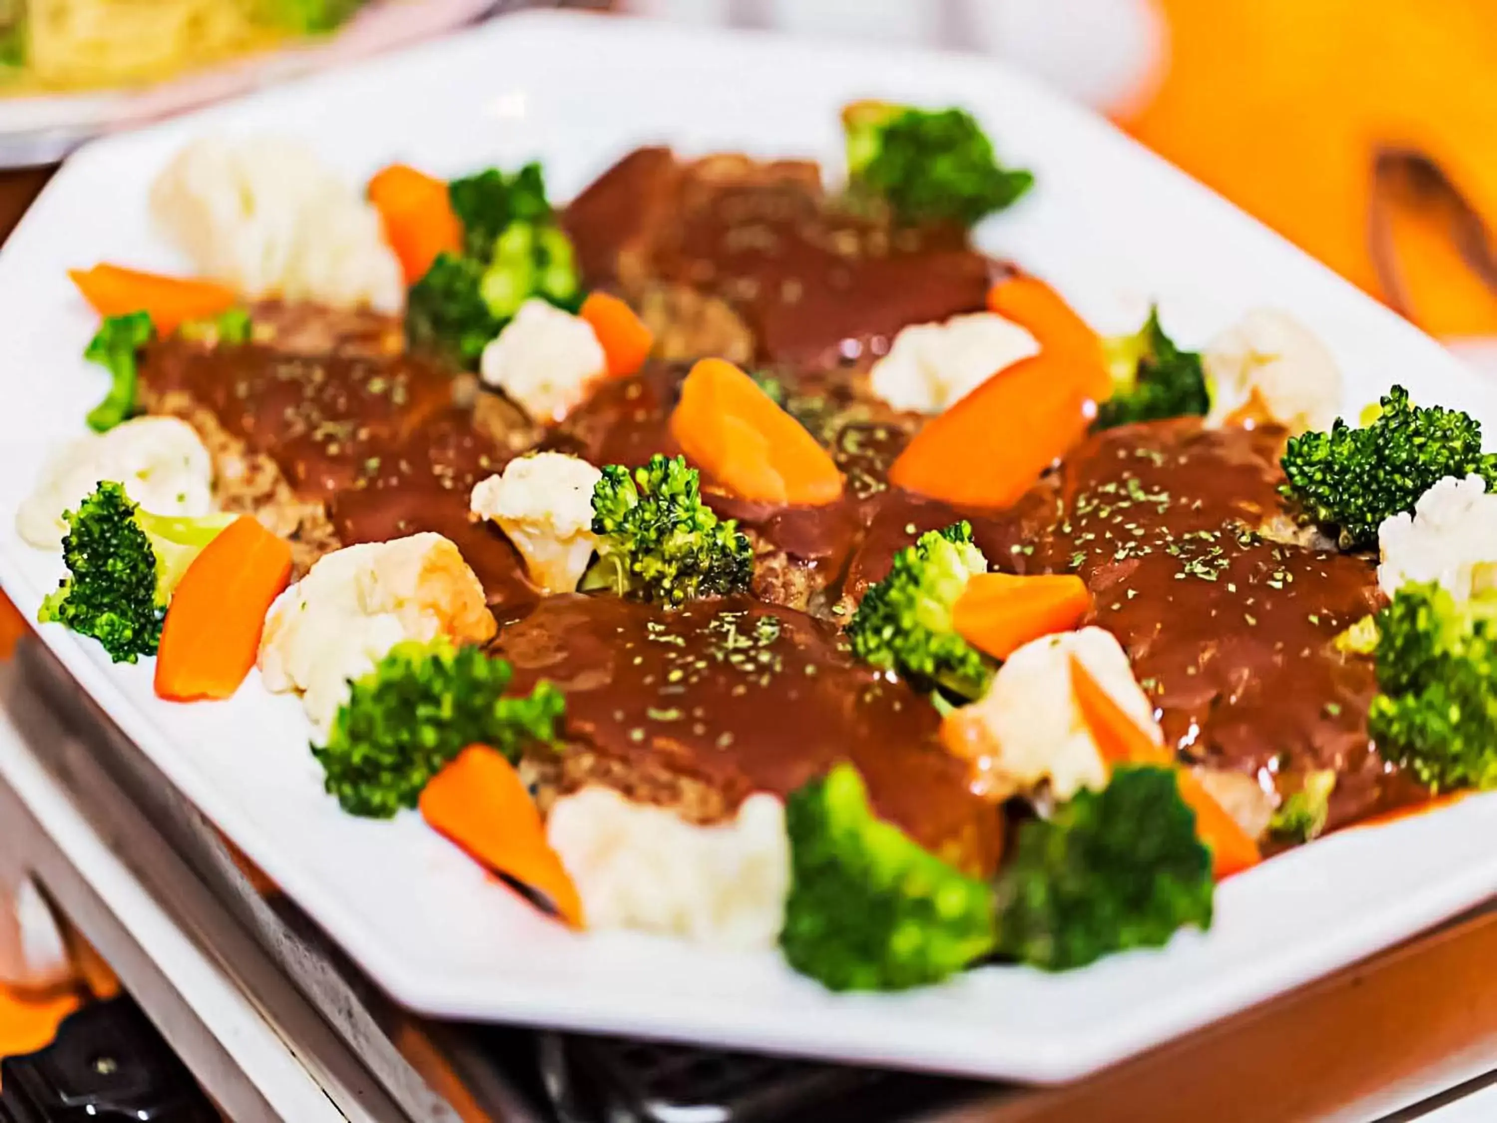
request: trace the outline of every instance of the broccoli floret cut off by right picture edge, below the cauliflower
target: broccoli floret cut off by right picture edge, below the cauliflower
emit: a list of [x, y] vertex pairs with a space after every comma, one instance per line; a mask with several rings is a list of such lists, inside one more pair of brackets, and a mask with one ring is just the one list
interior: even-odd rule
[[1464, 605], [1436, 584], [1400, 588], [1377, 615], [1367, 728], [1430, 788], [1497, 786], [1497, 594]]

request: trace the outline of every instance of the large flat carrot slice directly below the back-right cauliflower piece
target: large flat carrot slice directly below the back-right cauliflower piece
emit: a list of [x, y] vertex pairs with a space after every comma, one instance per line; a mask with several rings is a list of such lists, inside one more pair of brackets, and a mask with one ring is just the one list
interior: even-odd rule
[[957, 506], [1010, 506], [1085, 436], [1090, 400], [1076, 365], [1042, 350], [931, 419], [889, 467], [889, 482]]

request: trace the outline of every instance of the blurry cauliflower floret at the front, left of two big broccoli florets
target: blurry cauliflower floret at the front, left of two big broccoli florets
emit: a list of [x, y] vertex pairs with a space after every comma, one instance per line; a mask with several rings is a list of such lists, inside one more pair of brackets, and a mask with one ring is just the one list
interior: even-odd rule
[[784, 806], [744, 800], [732, 822], [693, 827], [609, 788], [557, 800], [546, 839], [591, 928], [641, 928], [719, 948], [774, 946], [790, 889]]

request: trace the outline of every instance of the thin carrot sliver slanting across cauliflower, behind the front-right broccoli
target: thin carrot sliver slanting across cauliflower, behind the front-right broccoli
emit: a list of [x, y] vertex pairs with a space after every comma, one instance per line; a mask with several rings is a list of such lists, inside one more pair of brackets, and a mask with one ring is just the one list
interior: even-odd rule
[[[1171, 752], [1112, 701], [1085, 665], [1070, 656], [1070, 689], [1097, 752], [1108, 764], [1153, 764], [1171, 767]], [[1175, 768], [1180, 798], [1196, 813], [1196, 836], [1211, 850], [1211, 873], [1217, 880], [1262, 861], [1257, 843], [1226, 813], [1189, 768]]]

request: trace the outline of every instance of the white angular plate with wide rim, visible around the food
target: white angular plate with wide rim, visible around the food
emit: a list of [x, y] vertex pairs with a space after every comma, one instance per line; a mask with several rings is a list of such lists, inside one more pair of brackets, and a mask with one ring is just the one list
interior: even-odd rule
[[[617, 156], [810, 154], [832, 166], [838, 108], [883, 96], [972, 108], [1037, 189], [984, 244], [1055, 281], [1099, 326], [1157, 298], [1199, 344], [1259, 304], [1290, 308], [1347, 373], [1355, 410], [1415, 398], [1497, 422], [1467, 368], [1286, 243], [1118, 135], [991, 63], [536, 13], [94, 144], [69, 160], [0, 252], [0, 579], [34, 614], [61, 572], [12, 517], [42, 457], [82, 428], [103, 374], [67, 267], [183, 270], [147, 220], [147, 187], [207, 132], [305, 136], [353, 181], [400, 159], [437, 174], [540, 157], [570, 198]], [[289, 696], [172, 705], [151, 662], [112, 666], [60, 627], [43, 638], [162, 771], [400, 1002], [430, 1015], [675, 1038], [846, 1062], [1058, 1081], [1118, 1060], [1410, 936], [1497, 891], [1497, 798], [1350, 830], [1222, 886], [1216, 927], [1069, 975], [987, 967], [895, 996], [834, 996], [777, 955], [612, 933], [573, 936], [413, 815], [370, 822], [322, 791]], [[787, 735], [793, 735], [789, 734]]]

